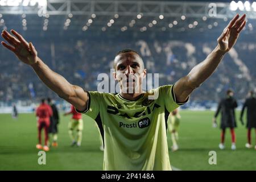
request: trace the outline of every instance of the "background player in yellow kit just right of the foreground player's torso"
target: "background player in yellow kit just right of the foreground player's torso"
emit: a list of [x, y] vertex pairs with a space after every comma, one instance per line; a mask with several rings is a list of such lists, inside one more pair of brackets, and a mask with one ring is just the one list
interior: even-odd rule
[[180, 114], [179, 110], [175, 109], [169, 114], [168, 117], [168, 131], [171, 133], [172, 138], [172, 151], [176, 151], [179, 149], [177, 145], [177, 140], [179, 139], [179, 126], [180, 126]]

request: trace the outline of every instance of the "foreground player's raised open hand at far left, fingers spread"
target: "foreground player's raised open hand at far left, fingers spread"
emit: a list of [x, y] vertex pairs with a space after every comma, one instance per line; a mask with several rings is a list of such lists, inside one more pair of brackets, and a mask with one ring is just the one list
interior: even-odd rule
[[14, 30], [11, 30], [11, 33], [15, 36], [11, 35], [6, 30], [2, 31], [1, 36], [10, 44], [8, 45], [5, 42], [1, 42], [2, 45], [14, 52], [23, 63], [28, 65], [35, 64], [38, 61], [38, 52], [36, 52], [32, 43], [28, 43], [22, 35]]

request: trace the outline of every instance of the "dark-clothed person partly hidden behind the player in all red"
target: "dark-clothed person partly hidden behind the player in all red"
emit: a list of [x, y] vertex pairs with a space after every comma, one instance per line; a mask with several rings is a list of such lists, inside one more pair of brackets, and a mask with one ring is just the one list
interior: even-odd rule
[[57, 147], [57, 133], [58, 128], [57, 125], [59, 124], [59, 111], [55, 104], [53, 104], [51, 98], [47, 98], [48, 105], [52, 108], [52, 116], [51, 116], [51, 123], [49, 126], [49, 134], [52, 134], [52, 146]]

